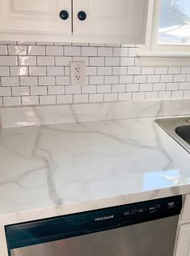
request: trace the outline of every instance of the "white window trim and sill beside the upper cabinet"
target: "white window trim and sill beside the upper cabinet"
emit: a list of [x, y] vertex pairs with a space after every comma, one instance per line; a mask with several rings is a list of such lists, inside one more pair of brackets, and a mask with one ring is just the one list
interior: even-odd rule
[[137, 55], [141, 66], [190, 66], [190, 46], [157, 45], [160, 0], [149, 0], [146, 45]]

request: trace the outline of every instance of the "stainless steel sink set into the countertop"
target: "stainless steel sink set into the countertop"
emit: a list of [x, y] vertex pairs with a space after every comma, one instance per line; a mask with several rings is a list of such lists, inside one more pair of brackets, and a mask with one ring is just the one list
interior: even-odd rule
[[190, 153], [190, 116], [156, 119], [155, 123]]

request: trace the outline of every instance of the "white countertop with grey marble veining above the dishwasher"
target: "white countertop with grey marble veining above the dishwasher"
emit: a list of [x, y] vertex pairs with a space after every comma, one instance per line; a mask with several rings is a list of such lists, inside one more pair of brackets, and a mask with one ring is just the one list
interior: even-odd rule
[[0, 225], [190, 193], [190, 154], [152, 118], [4, 128]]

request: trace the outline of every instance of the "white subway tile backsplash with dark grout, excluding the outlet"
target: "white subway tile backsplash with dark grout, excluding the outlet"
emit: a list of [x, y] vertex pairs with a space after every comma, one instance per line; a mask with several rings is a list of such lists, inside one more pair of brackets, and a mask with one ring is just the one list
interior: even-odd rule
[[[190, 67], [141, 67], [138, 47], [0, 41], [0, 106], [190, 98]], [[70, 63], [86, 63], [70, 85]]]

